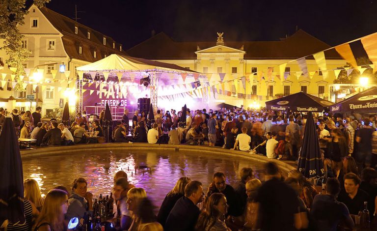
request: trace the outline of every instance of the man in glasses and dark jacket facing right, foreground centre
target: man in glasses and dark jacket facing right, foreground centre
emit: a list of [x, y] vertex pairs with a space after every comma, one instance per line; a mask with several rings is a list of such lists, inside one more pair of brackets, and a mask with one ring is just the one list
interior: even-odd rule
[[203, 201], [203, 187], [199, 181], [190, 181], [185, 187], [185, 196], [178, 199], [167, 216], [164, 231], [192, 231], [200, 210], [197, 203]]

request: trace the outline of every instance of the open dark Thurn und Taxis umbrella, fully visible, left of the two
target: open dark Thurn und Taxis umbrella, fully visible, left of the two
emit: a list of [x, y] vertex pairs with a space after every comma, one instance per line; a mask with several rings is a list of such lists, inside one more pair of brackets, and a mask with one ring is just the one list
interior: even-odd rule
[[267, 110], [278, 111], [287, 111], [287, 109], [290, 109], [293, 112], [322, 112], [332, 104], [333, 102], [328, 100], [304, 92], [298, 92], [267, 101], [266, 108]]

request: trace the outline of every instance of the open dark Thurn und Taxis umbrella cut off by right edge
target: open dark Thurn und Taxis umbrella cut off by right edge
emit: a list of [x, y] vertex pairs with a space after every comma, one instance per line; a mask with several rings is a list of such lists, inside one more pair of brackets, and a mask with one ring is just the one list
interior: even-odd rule
[[330, 107], [331, 113], [376, 113], [377, 87], [368, 88]]

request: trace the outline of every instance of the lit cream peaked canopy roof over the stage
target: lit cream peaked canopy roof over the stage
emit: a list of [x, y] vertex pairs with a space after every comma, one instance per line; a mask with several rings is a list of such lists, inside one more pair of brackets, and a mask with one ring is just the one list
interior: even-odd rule
[[135, 58], [130, 56], [112, 54], [106, 58], [96, 62], [81, 66], [77, 68], [78, 71], [84, 72], [102, 72], [102, 71], [116, 71], [116, 72], [141, 72], [141, 71], [156, 71], [156, 72], [172, 72], [172, 73], [198, 73], [188, 70], [184, 67], [148, 60], [144, 58]]

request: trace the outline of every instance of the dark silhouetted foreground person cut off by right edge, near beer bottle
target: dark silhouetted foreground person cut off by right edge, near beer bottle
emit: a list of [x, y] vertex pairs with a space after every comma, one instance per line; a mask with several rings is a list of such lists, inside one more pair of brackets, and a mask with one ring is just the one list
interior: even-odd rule
[[[377, 171], [372, 168], [365, 168], [361, 171], [360, 189], [369, 195], [368, 210], [373, 218], [373, 211], [376, 210], [375, 199], [377, 197]], [[376, 216], [377, 214], [375, 214]]]

